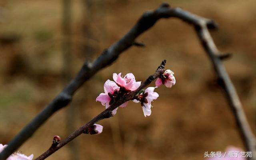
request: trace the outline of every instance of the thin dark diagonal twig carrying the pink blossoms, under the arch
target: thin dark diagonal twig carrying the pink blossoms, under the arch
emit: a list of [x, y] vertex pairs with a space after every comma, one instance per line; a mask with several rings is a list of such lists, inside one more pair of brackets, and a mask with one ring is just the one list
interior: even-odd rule
[[48, 150], [46, 150], [46, 152], [41, 154], [35, 160], [44, 160], [45, 158], [47, 158], [48, 156], [50, 156], [51, 154], [53, 154], [54, 152], [56, 152], [57, 150], [59, 150], [60, 148], [65, 146], [66, 144], [68, 144], [68, 142], [74, 140], [74, 138], [76, 138], [77, 136], [82, 134], [84, 132], [84, 130], [88, 130], [88, 128], [90, 126], [94, 125], [96, 122], [103, 120], [105, 118], [110, 118], [112, 115], [112, 110], [114, 110], [115, 108], [117, 108], [118, 106], [123, 104], [124, 102], [127, 102], [128, 100], [133, 100], [134, 97], [136, 96], [136, 94], [138, 94], [138, 92], [140, 92], [140, 90], [142, 90], [143, 88], [148, 86], [151, 82], [153, 82], [156, 78], [158, 78], [161, 74], [163, 74], [165, 64], [166, 64], [166, 60], [163, 60], [162, 63], [160, 64], [160, 66], [158, 66], [156, 72], [153, 75], [149, 76], [148, 79], [146, 79], [140, 85], [140, 87], [138, 89], [130, 92], [129, 94], [124, 95], [119, 100], [115, 101], [109, 108], [107, 108], [106, 110], [101, 112], [98, 116], [94, 117], [92, 120], [90, 120], [84, 126], [81, 126], [78, 130], [76, 130], [75, 132], [70, 134], [67, 138], [65, 138], [63, 141], [61, 141], [57, 146], [52, 145]]

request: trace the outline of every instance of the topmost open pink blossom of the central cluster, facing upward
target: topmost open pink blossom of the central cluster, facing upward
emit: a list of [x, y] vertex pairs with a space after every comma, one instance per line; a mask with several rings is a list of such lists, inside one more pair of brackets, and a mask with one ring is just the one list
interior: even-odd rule
[[113, 74], [114, 81], [121, 87], [124, 87], [126, 90], [136, 90], [141, 82], [136, 82], [135, 77], [132, 73], [128, 73], [124, 76], [124, 78], [121, 77], [121, 73], [118, 75], [116, 73]]

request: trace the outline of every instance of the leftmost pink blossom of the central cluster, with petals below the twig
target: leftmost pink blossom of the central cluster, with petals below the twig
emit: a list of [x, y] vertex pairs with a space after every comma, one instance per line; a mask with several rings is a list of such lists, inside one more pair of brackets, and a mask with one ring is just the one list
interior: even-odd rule
[[[118, 96], [119, 89], [120, 87], [118, 87], [115, 82], [107, 80], [104, 84], [104, 93], [101, 93], [96, 98], [96, 102], [99, 101], [103, 106], [106, 106], [106, 108], [108, 108], [111, 104], [114, 103], [114, 99]], [[120, 107], [125, 107], [127, 104], [128, 102], [125, 102]], [[118, 108], [112, 111], [113, 116], [116, 114], [117, 109]]]

